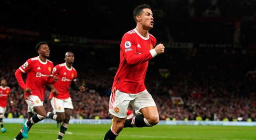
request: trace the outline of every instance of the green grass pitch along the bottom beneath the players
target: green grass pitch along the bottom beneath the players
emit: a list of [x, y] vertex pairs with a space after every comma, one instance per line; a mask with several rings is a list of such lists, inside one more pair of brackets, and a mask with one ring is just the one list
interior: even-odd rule
[[[12, 140], [21, 124], [4, 124], [0, 140]], [[62, 140], [103, 140], [110, 125], [70, 124]], [[55, 124], [36, 124], [26, 140], [56, 140]], [[24, 139], [25, 140], [25, 139]], [[256, 127], [241, 126], [165, 126], [125, 128], [117, 140], [256, 140]]]

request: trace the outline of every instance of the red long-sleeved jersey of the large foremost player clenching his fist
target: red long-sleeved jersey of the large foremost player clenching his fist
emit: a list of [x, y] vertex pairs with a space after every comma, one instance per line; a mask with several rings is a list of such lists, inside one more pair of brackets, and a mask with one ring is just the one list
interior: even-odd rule
[[124, 34], [120, 44], [120, 64], [113, 87], [125, 93], [139, 93], [146, 89], [144, 81], [148, 60], [157, 55], [153, 49], [155, 43], [154, 36], [148, 33], [145, 38], [136, 29]]

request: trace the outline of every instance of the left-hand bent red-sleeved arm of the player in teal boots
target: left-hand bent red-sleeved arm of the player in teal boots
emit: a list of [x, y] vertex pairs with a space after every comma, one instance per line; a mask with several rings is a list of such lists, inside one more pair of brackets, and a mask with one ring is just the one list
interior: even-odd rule
[[17, 79], [17, 82], [20, 88], [22, 88], [22, 90], [24, 90], [24, 92], [27, 92], [27, 93], [31, 93], [32, 91], [24, 83], [24, 80], [22, 79], [22, 74], [26, 73], [30, 69], [31, 69], [31, 59], [27, 60], [26, 63], [24, 63], [15, 71], [15, 77]]

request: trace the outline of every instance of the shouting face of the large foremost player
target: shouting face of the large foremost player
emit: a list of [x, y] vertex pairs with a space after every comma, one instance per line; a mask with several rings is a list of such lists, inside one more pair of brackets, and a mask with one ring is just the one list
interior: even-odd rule
[[154, 18], [153, 13], [150, 9], [143, 9], [143, 12], [141, 13], [141, 24], [144, 27], [144, 29], [149, 30], [153, 28]]

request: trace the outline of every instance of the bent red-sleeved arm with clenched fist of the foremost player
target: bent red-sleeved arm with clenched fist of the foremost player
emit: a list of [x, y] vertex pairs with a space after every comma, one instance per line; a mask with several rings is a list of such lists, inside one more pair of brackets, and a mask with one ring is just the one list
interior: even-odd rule
[[137, 47], [135, 46], [133, 37], [128, 34], [124, 35], [121, 43], [121, 50], [124, 53], [127, 63], [130, 65], [141, 64], [157, 56], [157, 54], [160, 54], [159, 47], [157, 45], [154, 49], [139, 54], [137, 53]]

